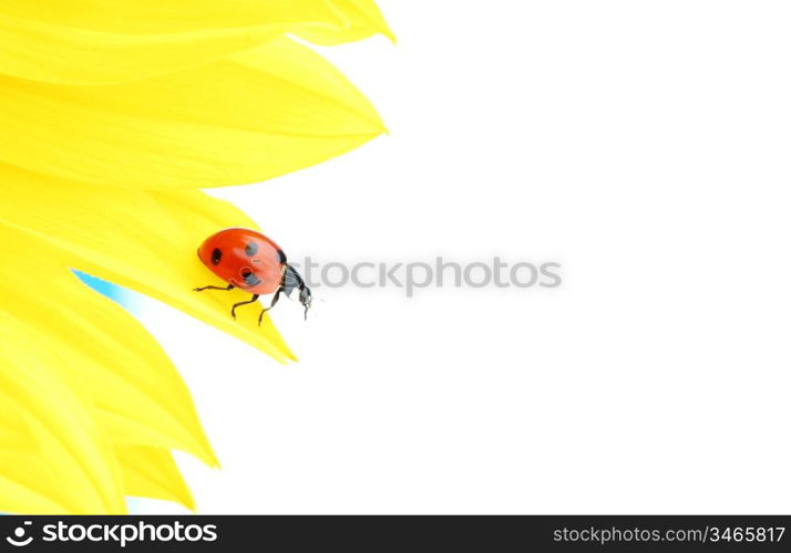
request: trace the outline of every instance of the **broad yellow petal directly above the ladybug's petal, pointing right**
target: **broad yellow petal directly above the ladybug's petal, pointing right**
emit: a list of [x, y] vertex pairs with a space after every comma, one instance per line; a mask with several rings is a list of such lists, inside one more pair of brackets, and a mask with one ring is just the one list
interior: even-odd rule
[[259, 181], [381, 134], [368, 101], [288, 39], [233, 59], [114, 86], [0, 77], [0, 160], [131, 188]]

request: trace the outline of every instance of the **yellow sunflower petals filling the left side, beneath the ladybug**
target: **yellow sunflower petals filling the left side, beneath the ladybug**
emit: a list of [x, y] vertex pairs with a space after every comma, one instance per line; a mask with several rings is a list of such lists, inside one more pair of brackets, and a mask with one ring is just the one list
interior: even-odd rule
[[[0, 6], [0, 511], [194, 509], [178, 449], [217, 460], [156, 341], [80, 271], [294, 355], [195, 294], [197, 244], [257, 228], [201, 188], [257, 182], [384, 128], [306, 42], [392, 38], [370, 0], [12, 0]], [[242, 292], [232, 292], [239, 294]]]

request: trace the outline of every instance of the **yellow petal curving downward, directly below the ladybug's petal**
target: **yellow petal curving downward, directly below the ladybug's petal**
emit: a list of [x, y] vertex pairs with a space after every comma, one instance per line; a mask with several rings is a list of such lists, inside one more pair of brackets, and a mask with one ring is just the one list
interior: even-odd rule
[[14, 260], [0, 268], [3, 309], [34, 324], [64, 366], [79, 371], [109, 438], [178, 448], [216, 465], [189, 393], [153, 337], [117, 304], [80, 283], [68, 257], [47, 241], [0, 229]]

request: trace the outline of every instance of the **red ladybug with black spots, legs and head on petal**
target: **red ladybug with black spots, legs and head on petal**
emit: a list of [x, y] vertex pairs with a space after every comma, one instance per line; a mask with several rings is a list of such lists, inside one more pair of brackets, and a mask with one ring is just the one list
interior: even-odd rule
[[292, 298], [297, 291], [299, 303], [305, 306], [305, 319], [308, 319], [312, 300], [310, 289], [305, 285], [299, 273], [288, 264], [280, 247], [260, 232], [238, 228], [220, 230], [204, 240], [197, 253], [203, 264], [228, 285], [202, 286], [194, 289], [195, 292], [238, 288], [253, 294], [250, 300], [234, 304], [230, 309], [230, 316], [234, 319], [236, 319], [236, 307], [255, 303], [259, 295], [274, 292], [271, 304], [264, 307], [258, 315], [260, 326], [264, 313], [275, 306], [281, 292]]

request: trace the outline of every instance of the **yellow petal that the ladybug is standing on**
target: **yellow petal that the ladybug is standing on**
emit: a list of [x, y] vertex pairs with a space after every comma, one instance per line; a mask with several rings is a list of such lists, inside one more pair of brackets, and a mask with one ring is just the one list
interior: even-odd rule
[[62, 252], [71, 268], [161, 300], [277, 361], [295, 358], [268, 316], [258, 326], [258, 310], [230, 317], [230, 305], [249, 298], [244, 292], [193, 292], [220, 283], [197, 259], [201, 242], [223, 228], [256, 228], [228, 202], [194, 190], [94, 187], [1, 165], [0, 186], [7, 200], [0, 205], [4, 241], [23, 232], [47, 243], [48, 255], [50, 249]]

